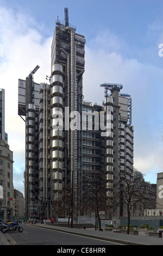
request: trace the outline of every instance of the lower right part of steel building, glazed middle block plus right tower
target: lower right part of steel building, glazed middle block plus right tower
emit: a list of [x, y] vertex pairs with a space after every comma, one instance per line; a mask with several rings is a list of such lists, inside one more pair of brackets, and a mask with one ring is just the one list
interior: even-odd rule
[[[106, 196], [114, 200], [114, 195], [119, 191], [120, 173], [133, 172], [134, 160], [134, 127], [131, 125], [131, 96], [120, 93], [121, 84], [102, 84], [105, 88], [105, 99], [101, 106], [92, 106], [91, 102], [83, 102], [83, 111], [90, 112], [83, 131], [83, 174], [105, 173]], [[111, 91], [108, 94], [108, 89]], [[92, 130], [92, 115], [96, 113], [105, 114], [105, 122], [108, 118], [108, 126], [105, 124], [106, 132]], [[95, 127], [95, 120], [93, 127]], [[87, 126], [86, 126], [87, 125]], [[122, 216], [124, 212], [123, 203], [116, 208], [110, 216]]]

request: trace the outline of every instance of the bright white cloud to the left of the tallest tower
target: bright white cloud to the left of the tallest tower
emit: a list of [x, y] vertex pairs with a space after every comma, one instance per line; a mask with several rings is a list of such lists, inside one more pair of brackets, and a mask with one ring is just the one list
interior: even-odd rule
[[46, 75], [51, 73], [52, 38], [43, 38], [35, 27], [30, 16], [0, 8], [0, 82], [5, 89], [5, 131], [14, 152], [14, 186], [21, 192], [22, 183], [18, 180], [23, 181], [25, 167], [25, 123], [17, 114], [18, 78], [25, 80], [36, 65], [40, 69], [34, 75], [35, 82], [47, 82]]

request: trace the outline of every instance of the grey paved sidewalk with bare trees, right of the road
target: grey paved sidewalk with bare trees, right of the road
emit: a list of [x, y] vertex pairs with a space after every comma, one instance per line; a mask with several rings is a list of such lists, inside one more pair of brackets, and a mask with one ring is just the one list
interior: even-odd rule
[[[28, 225], [28, 224], [27, 224]], [[31, 224], [32, 225], [32, 224]], [[139, 235], [127, 235], [121, 233], [113, 233], [112, 231], [98, 231], [95, 229], [78, 229], [59, 227], [52, 224], [36, 224], [33, 227], [47, 228], [65, 233], [83, 235], [86, 237], [92, 237], [95, 239], [101, 239], [104, 241], [118, 242], [123, 245], [163, 245], [163, 239], [156, 236], [145, 235], [140, 233]], [[0, 245], [9, 245], [7, 236], [0, 231]]]

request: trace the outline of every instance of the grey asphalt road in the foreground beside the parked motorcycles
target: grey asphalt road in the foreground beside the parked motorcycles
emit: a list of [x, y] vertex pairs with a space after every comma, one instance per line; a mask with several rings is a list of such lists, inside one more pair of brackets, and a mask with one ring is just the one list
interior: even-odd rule
[[71, 235], [56, 230], [33, 227], [21, 224], [24, 231], [11, 231], [6, 233], [11, 245], [55, 245], [55, 246], [108, 246], [117, 245], [114, 242], [106, 242], [98, 239], [90, 239], [79, 235]]

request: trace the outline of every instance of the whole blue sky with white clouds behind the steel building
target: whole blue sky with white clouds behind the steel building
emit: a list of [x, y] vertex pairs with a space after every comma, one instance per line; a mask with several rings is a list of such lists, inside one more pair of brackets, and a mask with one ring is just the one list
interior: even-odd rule
[[25, 123], [18, 116], [18, 79], [36, 65], [36, 83], [51, 75], [55, 21], [85, 36], [84, 99], [102, 105], [102, 83], [123, 84], [132, 97], [134, 168], [156, 183], [163, 172], [163, 2], [161, 0], [0, 0], [0, 88], [5, 132], [14, 154], [14, 188], [24, 193]]

